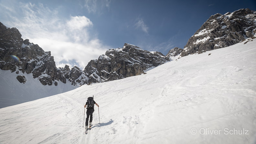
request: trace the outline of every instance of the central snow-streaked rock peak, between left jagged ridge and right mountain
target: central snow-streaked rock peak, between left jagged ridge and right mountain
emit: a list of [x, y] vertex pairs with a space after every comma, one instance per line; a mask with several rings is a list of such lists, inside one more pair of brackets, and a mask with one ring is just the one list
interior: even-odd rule
[[160, 52], [151, 53], [125, 43], [123, 48], [110, 49], [97, 60], [91, 60], [83, 74], [88, 77], [87, 83], [111, 81], [143, 74], [169, 60]]

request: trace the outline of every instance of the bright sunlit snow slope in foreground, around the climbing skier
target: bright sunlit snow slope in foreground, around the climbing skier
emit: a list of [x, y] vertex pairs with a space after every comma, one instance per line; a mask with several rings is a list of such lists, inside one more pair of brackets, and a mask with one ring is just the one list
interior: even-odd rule
[[[255, 54], [256, 39], [1, 108], [0, 143], [255, 143]], [[92, 95], [101, 124], [96, 107], [85, 135]]]

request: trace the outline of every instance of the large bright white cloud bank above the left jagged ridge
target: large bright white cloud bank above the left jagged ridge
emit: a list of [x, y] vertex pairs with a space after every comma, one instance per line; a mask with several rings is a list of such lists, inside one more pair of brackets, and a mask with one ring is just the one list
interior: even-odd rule
[[59, 11], [42, 4], [18, 3], [16, 9], [19, 16], [7, 8], [0, 10], [8, 10], [5, 14], [10, 17], [2, 23], [16, 27], [23, 39], [51, 51], [57, 67], [64, 67], [65, 64], [73, 67], [75, 61], [76, 66], [83, 69], [91, 59], [97, 59], [110, 48], [89, 32], [93, 23], [86, 16], [59, 18]]

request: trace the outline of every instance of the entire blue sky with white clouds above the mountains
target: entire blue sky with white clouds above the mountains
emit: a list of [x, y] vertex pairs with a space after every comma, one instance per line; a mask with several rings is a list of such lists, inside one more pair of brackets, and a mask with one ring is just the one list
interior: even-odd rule
[[0, 21], [51, 51], [57, 67], [83, 69], [124, 43], [166, 55], [211, 15], [241, 8], [256, 10], [256, 1], [0, 0]]

